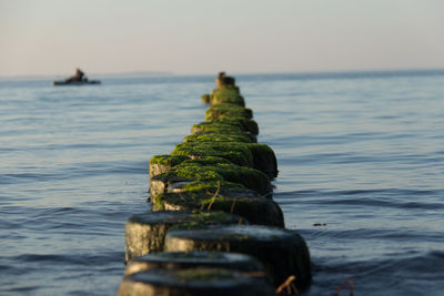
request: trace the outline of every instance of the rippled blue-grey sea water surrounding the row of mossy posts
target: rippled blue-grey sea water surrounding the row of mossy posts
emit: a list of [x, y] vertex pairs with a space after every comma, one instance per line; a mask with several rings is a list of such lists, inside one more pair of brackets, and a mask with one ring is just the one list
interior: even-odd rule
[[[0, 294], [114, 295], [148, 162], [203, 121], [214, 75], [0, 80]], [[444, 71], [236, 75], [274, 198], [332, 295], [444, 295]], [[349, 295], [345, 287], [340, 295]]]

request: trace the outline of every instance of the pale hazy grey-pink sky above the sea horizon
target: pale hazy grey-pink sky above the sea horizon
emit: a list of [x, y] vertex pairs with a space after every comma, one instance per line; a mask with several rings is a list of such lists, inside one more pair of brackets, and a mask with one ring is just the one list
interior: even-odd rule
[[444, 69], [443, 0], [0, 0], [0, 76]]

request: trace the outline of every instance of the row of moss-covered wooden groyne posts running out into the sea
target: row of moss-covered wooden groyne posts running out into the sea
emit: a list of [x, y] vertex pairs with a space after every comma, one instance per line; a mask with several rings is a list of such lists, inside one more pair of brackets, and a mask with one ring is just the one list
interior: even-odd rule
[[311, 283], [306, 244], [272, 198], [274, 152], [258, 143], [235, 79], [215, 81], [205, 121], [150, 160], [152, 210], [125, 224], [118, 295], [297, 294]]

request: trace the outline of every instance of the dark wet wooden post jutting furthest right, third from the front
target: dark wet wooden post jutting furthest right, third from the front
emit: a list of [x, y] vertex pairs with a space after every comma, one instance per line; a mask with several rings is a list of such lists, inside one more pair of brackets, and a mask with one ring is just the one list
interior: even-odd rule
[[295, 276], [299, 289], [311, 283], [311, 261], [305, 241], [294, 231], [259, 225], [232, 225], [198, 231], [172, 231], [165, 236], [167, 252], [222, 251], [258, 258], [275, 286]]

